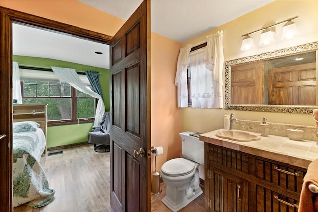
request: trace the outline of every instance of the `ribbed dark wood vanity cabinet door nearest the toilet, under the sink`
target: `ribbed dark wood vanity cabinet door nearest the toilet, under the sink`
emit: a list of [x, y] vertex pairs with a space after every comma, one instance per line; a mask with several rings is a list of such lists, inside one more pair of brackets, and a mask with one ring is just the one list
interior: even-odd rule
[[210, 166], [212, 212], [248, 212], [248, 183]]

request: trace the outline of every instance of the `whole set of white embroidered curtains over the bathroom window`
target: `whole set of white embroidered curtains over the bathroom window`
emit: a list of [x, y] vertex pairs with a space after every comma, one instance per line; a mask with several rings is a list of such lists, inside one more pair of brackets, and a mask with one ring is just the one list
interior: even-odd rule
[[[223, 108], [223, 31], [206, 37], [207, 45], [191, 53], [191, 96], [188, 97], [187, 68], [192, 45], [180, 49], [175, 85], [178, 87], [178, 107]], [[212, 73], [210, 74], [209, 71]]]

